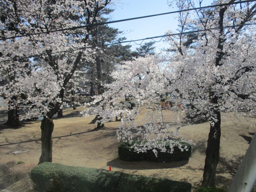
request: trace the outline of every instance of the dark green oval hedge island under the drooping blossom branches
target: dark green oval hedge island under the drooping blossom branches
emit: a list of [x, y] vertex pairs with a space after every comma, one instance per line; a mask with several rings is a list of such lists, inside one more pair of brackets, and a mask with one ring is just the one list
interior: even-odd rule
[[[157, 161], [157, 162], [171, 162], [171, 161], [180, 161], [188, 160], [192, 153], [192, 146], [190, 143], [185, 141], [175, 141], [174, 150], [172, 153], [161, 152], [160, 149], [156, 149], [158, 156], [156, 157], [152, 150], [147, 150], [146, 153], [137, 153], [131, 149], [131, 146], [138, 141], [124, 141], [118, 146], [118, 155], [120, 159], [125, 161]], [[178, 147], [178, 144], [181, 144], [182, 147], [187, 146], [188, 151], [181, 151]], [[170, 150], [170, 141], [165, 141], [165, 148]]]

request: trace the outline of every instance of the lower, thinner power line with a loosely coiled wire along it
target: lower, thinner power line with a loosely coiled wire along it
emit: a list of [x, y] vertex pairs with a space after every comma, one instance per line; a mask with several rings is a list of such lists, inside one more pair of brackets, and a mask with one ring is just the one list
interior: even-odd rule
[[[78, 49], [71, 49], [71, 50], [64, 50], [64, 51], [58, 51], [58, 52], [53, 52], [51, 54], [57, 54], [57, 53], [64, 53], [64, 52], [72, 52], [72, 51], [79, 51], [79, 50], [84, 50], [84, 49], [88, 49], [88, 48], [96, 48], [96, 47], [106, 47], [109, 45], [115, 45], [115, 44], [122, 44], [122, 43], [131, 43], [134, 42], [135, 44], [136, 41], [141, 41], [140, 44], [142, 44], [143, 41], [148, 40], [148, 39], [156, 39], [156, 38], [161, 38], [159, 41], [156, 42], [160, 42], [162, 41], [162, 39], [164, 37], [168, 37], [168, 36], [177, 36], [177, 35], [186, 35], [186, 34], [191, 34], [191, 33], [198, 33], [198, 32], [204, 32], [204, 31], [211, 31], [211, 30], [215, 30], [215, 29], [220, 29], [220, 28], [234, 28], [234, 27], [241, 27], [241, 26], [250, 26], [250, 25], [255, 25], [256, 23], [248, 23], [248, 24], [240, 24], [240, 25], [230, 25], [230, 26], [223, 26], [223, 27], [214, 27], [214, 28], [208, 28], [208, 29], [201, 29], [201, 30], [195, 30], [195, 31], [187, 31], [187, 32], [182, 32], [182, 33], [173, 33], [173, 34], [165, 34], [165, 35], [161, 35], [161, 36], [154, 36], [154, 37], [147, 37], [147, 38], [143, 38], [143, 39], [137, 39], [137, 40], [129, 40], [129, 41], [121, 41], [121, 42], [116, 42], [116, 43], [111, 43], [111, 44], [105, 44], [105, 45], [99, 45], [99, 46], [88, 46], [88, 47], [82, 47], [82, 48], [78, 48]], [[154, 40], [155, 41], [155, 40]], [[129, 44], [128, 44], [129, 45]], [[137, 44], [139, 45], [139, 44]], [[37, 54], [37, 55], [30, 55], [27, 57], [20, 57], [19, 59], [29, 59], [31, 57], [38, 57], [38, 56], [45, 56], [47, 55], [46, 53], [43, 54]], [[11, 61], [13, 59], [10, 60], [4, 60], [4, 61], [0, 61], [0, 62], [6, 62], [6, 61]]]

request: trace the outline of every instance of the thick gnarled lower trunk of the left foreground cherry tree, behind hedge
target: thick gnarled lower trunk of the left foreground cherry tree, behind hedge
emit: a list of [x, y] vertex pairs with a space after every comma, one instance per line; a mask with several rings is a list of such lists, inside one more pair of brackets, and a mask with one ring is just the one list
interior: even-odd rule
[[52, 131], [53, 131], [52, 118], [44, 119], [41, 122], [41, 142], [42, 142], [42, 154], [39, 159], [39, 163], [52, 162]]

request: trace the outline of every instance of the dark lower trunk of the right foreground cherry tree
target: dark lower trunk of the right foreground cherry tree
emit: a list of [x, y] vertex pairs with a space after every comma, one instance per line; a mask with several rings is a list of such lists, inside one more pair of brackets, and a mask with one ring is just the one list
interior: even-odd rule
[[207, 141], [206, 157], [204, 162], [204, 174], [202, 186], [214, 187], [216, 168], [220, 159], [220, 111], [214, 111], [217, 116], [217, 122], [211, 124]]

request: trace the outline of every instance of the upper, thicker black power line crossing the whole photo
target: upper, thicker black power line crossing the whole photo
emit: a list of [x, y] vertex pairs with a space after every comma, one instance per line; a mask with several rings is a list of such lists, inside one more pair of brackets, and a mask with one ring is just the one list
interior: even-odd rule
[[184, 9], [184, 10], [173, 11], [173, 12], [159, 13], [159, 14], [155, 14], [155, 15], [147, 15], [147, 16], [134, 17], [134, 18], [129, 18], [129, 19], [108, 21], [108, 22], [102, 22], [102, 23], [94, 23], [94, 24], [90, 24], [90, 25], [82, 25], [82, 26], [72, 27], [72, 28], [56, 29], [56, 30], [52, 30], [52, 31], [48, 31], [48, 32], [30, 33], [30, 34], [25, 34], [25, 35], [20, 35], [20, 36], [5, 37], [0, 40], [2, 41], [5, 39], [14, 39], [14, 38], [18, 38], [18, 37], [33, 36], [33, 35], [40, 35], [40, 34], [46, 34], [46, 33], [49, 34], [49, 33], [59, 32], [59, 31], [74, 30], [74, 29], [79, 29], [79, 28], [87, 28], [87, 27], [93, 27], [93, 26], [99, 26], [99, 25], [106, 25], [106, 24], [111, 24], [111, 23], [129, 21], [129, 20], [137, 20], [137, 19], [143, 19], [143, 18], [148, 18], [148, 17], [156, 17], [156, 16], [172, 14], [172, 13], [187, 12], [187, 11], [193, 11], [193, 10], [197, 10], [197, 9], [206, 9], [206, 8], [220, 7], [220, 6], [226, 6], [226, 5], [232, 5], [232, 4], [249, 3], [249, 2], [254, 2], [254, 1], [256, 1], [256, 0], [244, 0], [244, 1], [238, 1], [238, 2], [208, 5], [208, 6], [204, 6], [204, 7], [196, 7], [196, 8]]

